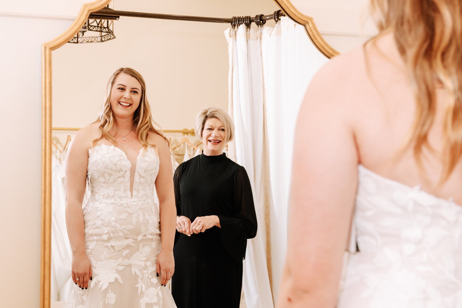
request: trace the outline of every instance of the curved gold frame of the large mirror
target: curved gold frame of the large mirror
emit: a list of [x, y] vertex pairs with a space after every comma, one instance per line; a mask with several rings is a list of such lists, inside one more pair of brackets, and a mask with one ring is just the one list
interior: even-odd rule
[[[40, 261], [40, 308], [49, 308], [51, 281], [51, 127], [52, 127], [52, 57], [51, 52], [67, 43], [85, 24], [91, 12], [107, 6], [111, 0], [84, 4], [73, 24], [60, 36], [42, 45], [42, 230]], [[274, 0], [287, 16], [303, 24], [310, 40], [326, 57], [339, 54], [322, 37], [313, 18], [298, 11], [290, 0]]]

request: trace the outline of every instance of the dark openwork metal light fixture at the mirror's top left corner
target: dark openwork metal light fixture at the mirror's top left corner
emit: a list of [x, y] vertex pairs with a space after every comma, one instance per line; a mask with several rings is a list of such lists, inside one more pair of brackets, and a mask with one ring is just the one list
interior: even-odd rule
[[114, 20], [119, 20], [119, 16], [90, 14], [85, 24], [79, 32], [69, 40], [69, 43], [99, 43], [116, 38], [114, 35]]

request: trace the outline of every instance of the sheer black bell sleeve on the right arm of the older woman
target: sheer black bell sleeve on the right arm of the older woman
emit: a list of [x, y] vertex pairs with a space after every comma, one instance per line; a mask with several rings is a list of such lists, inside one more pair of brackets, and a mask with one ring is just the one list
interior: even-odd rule
[[236, 260], [245, 258], [247, 239], [257, 233], [257, 217], [249, 176], [244, 167], [239, 166], [234, 175], [234, 199], [237, 207], [236, 217], [218, 216], [221, 238], [226, 250]]

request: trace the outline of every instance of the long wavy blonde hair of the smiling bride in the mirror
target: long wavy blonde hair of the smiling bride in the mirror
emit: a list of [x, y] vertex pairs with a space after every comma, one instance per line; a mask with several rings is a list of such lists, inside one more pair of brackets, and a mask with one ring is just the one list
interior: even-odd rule
[[117, 145], [116, 139], [109, 134], [109, 131], [116, 125], [114, 114], [112, 113], [111, 109], [111, 90], [112, 86], [114, 85], [114, 81], [116, 80], [117, 76], [120, 73], [126, 73], [132, 77], [134, 77], [141, 85], [141, 97], [140, 97], [140, 105], [135, 110], [133, 115], [133, 124], [135, 126], [135, 133], [138, 135], [138, 140], [140, 144], [143, 145], [145, 148], [149, 145], [155, 147], [156, 145], [149, 143], [147, 140], [148, 133], [151, 131], [153, 133], [157, 133], [159, 136], [162, 136], [167, 144], [170, 146], [169, 140], [165, 138], [162, 130], [158, 130], [154, 127], [154, 125], [159, 126], [156, 122], [152, 120], [151, 115], [151, 107], [147, 101], [146, 97], [146, 83], [143, 77], [140, 75], [139, 72], [135, 71], [129, 67], [121, 67], [116, 72], [114, 72], [111, 78], [108, 81], [108, 85], [106, 86], [106, 93], [104, 95], [103, 107], [101, 108], [101, 112], [97, 121], [101, 122], [98, 129], [101, 132], [101, 136], [95, 140], [93, 140], [93, 146], [101, 139], [106, 138], [112, 144]]

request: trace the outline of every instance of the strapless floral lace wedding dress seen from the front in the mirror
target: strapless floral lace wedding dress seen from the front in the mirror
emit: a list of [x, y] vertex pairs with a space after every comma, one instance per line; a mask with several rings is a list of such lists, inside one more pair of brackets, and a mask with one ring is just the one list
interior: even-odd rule
[[67, 307], [176, 308], [170, 290], [156, 275], [161, 241], [154, 182], [159, 158], [148, 147], [133, 163], [130, 193], [131, 163], [125, 153], [113, 145], [89, 150], [91, 194], [83, 212], [93, 274], [87, 290], [74, 285]]

